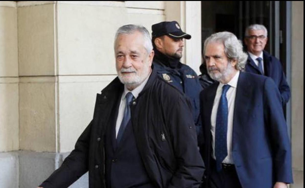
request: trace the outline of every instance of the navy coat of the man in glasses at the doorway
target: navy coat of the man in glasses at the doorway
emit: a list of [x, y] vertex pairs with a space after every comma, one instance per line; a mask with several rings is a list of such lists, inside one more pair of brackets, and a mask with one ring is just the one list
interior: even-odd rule
[[[286, 81], [281, 62], [268, 52], [263, 51], [264, 73], [265, 76], [271, 77], [281, 94], [282, 105], [285, 105], [290, 98], [290, 88]], [[248, 56], [246, 64], [246, 72], [260, 74], [258, 67], [255, 65], [250, 56]]]

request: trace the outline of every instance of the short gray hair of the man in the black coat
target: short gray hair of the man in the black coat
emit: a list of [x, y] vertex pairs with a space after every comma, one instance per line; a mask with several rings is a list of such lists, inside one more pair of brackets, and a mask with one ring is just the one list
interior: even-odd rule
[[135, 31], [138, 31], [140, 33], [143, 34], [143, 38], [144, 38], [144, 48], [146, 49], [147, 53], [149, 54], [152, 51], [152, 41], [149, 35], [148, 30], [140, 25], [133, 25], [133, 24], [129, 24], [129, 25], [124, 25], [122, 27], [120, 27], [117, 30], [117, 33], [115, 34], [115, 38], [114, 38], [114, 48], [115, 48], [115, 44], [117, 42], [117, 37], [120, 34], [133, 34], [135, 33]]

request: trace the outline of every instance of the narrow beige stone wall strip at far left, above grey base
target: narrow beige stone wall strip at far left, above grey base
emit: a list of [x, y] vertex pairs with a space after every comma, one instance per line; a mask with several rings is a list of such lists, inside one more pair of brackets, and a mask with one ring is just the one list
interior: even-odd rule
[[0, 152], [19, 149], [16, 3], [0, 2]]

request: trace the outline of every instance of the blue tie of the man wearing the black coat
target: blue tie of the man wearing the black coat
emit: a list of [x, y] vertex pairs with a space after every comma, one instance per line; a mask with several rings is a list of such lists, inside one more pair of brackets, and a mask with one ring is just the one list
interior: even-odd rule
[[124, 116], [122, 119], [122, 123], [121, 123], [120, 129], [119, 129], [119, 132], [117, 133], [117, 143], [120, 142], [120, 140], [123, 136], [124, 130], [125, 130], [128, 122], [130, 121], [130, 102], [132, 101], [132, 98], [133, 98], [132, 93], [128, 92], [126, 94], [126, 106], [124, 109]]

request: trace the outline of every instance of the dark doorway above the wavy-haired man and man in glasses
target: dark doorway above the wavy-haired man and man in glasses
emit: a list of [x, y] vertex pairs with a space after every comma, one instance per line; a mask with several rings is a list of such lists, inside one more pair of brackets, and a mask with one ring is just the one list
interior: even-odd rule
[[271, 6], [272, 2], [269, 1], [202, 1], [202, 41], [212, 33], [221, 31], [234, 33], [242, 40], [245, 28], [258, 23], [267, 28], [270, 39], [265, 49], [272, 51], [269, 48], [272, 46], [270, 43], [274, 42], [274, 29], [270, 27], [274, 22], [270, 19]]

